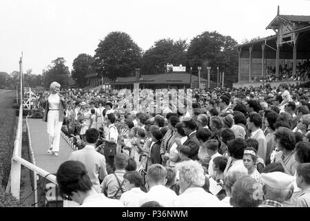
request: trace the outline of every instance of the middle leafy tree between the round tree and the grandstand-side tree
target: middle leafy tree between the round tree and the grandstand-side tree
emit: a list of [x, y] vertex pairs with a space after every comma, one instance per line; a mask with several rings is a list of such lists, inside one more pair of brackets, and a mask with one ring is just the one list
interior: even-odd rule
[[186, 50], [186, 40], [161, 39], [156, 41], [142, 57], [142, 73], [145, 75], [165, 73], [167, 64], [174, 64], [174, 66], [186, 64]]

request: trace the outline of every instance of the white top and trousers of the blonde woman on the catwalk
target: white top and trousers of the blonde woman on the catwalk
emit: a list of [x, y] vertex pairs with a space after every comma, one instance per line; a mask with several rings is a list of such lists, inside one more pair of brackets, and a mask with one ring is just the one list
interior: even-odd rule
[[58, 94], [48, 96], [48, 143], [52, 151], [59, 151], [60, 133], [63, 122], [59, 122], [61, 99]]

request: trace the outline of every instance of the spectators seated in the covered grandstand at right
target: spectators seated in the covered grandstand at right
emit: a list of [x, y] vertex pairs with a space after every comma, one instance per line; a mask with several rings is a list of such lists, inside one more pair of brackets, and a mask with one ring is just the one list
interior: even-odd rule
[[267, 67], [266, 77], [254, 78], [254, 81], [272, 82], [272, 81], [309, 81], [310, 79], [310, 61], [300, 62], [296, 66], [296, 75], [293, 75], [293, 64], [288, 66], [279, 66], [279, 75], [276, 76], [276, 67]]

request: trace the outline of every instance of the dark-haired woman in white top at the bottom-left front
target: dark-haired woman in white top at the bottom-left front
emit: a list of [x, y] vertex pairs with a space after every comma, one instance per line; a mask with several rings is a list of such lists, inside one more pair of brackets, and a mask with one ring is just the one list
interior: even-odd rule
[[119, 200], [106, 198], [94, 189], [82, 162], [63, 162], [56, 172], [56, 180], [61, 197], [64, 200], [73, 200], [81, 207], [123, 207]]

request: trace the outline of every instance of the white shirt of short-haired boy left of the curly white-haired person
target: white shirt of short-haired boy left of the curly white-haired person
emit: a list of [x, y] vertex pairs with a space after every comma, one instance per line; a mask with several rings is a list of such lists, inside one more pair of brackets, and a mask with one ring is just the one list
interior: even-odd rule
[[164, 207], [172, 206], [174, 199], [176, 198], [176, 193], [171, 189], [168, 189], [163, 185], [152, 186], [147, 193], [145, 193], [145, 198], [141, 200], [140, 206], [145, 202], [156, 201]]

